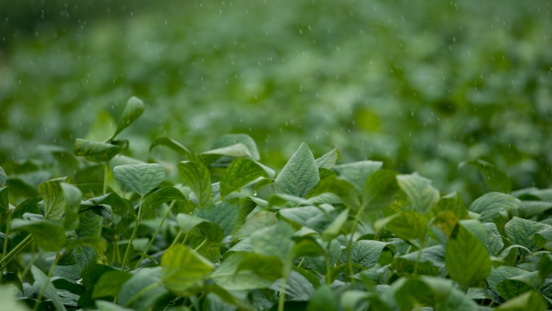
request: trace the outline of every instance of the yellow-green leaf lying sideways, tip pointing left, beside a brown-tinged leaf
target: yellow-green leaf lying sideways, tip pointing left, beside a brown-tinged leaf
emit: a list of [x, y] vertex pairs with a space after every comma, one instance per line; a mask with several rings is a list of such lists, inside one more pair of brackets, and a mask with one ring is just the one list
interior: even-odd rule
[[386, 227], [401, 239], [411, 240], [425, 236], [427, 221], [427, 217], [417, 211], [401, 211], [376, 221], [374, 229], [379, 231]]

